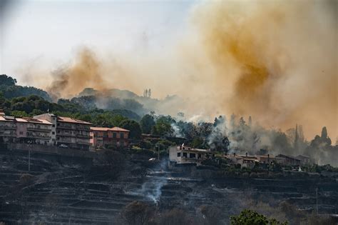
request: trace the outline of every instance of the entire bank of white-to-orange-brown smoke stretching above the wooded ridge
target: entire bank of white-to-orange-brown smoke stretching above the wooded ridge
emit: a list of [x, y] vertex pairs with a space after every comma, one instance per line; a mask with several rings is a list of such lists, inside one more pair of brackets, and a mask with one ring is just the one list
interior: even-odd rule
[[[79, 51], [51, 76], [58, 97], [86, 87], [186, 99], [168, 107], [212, 118], [252, 115], [264, 126], [322, 126], [337, 136], [337, 1], [211, 1], [190, 11], [182, 39], [156, 51]], [[37, 74], [36, 76], [39, 76]]]

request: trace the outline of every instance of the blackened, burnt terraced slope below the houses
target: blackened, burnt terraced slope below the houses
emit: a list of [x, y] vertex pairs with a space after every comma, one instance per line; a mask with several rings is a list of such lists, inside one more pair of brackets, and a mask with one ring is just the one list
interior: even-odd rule
[[[1, 151], [0, 218], [16, 224], [119, 224], [120, 212], [132, 201], [147, 201], [160, 209], [184, 206], [192, 212], [202, 205], [217, 206], [225, 218], [242, 209], [246, 196], [287, 200], [300, 209], [315, 209], [314, 189], [319, 188], [319, 211], [338, 209], [337, 181], [304, 179], [199, 179], [165, 164], [142, 175], [121, 176], [112, 181], [83, 167], [61, 165], [41, 157]], [[138, 164], [130, 164], [133, 169]]]

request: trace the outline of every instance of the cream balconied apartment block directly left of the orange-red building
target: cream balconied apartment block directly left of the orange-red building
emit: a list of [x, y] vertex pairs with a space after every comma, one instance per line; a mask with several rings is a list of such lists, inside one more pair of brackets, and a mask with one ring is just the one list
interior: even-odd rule
[[[88, 150], [90, 146], [91, 123], [72, 119], [69, 117], [55, 116], [54, 114], [41, 114], [34, 119], [45, 119], [52, 124], [52, 140], [56, 145], [68, 146], [73, 149]], [[55, 130], [55, 131], [54, 131]], [[54, 133], [53, 133], [54, 132]], [[55, 134], [55, 136], [54, 136]]]

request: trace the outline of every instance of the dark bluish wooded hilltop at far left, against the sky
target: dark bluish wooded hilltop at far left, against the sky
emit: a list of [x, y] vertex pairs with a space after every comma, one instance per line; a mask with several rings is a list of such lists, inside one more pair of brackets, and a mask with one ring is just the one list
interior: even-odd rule
[[42, 89], [37, 89], [34, 86], [16, 85], [16, 79], [6, 74], [0, 75], [0, 91], [6, 99], [13, 99], [19, 96], [40, 96], [46, 101], [51, 101], [51, 96]]

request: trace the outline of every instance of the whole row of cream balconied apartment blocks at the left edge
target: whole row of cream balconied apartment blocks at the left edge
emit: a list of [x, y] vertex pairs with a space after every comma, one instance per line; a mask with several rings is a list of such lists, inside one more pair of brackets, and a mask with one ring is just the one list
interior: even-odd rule
[[[63, 144], [73, 149], [88, 150], [91, 144], [89, 134], [91, 125], [86, 121], [54, 114], [15, 118], [6, 116], [0, 110], [0, 142], [57, 146]], [[128, 134], [126, 136], [128, 139]]]

